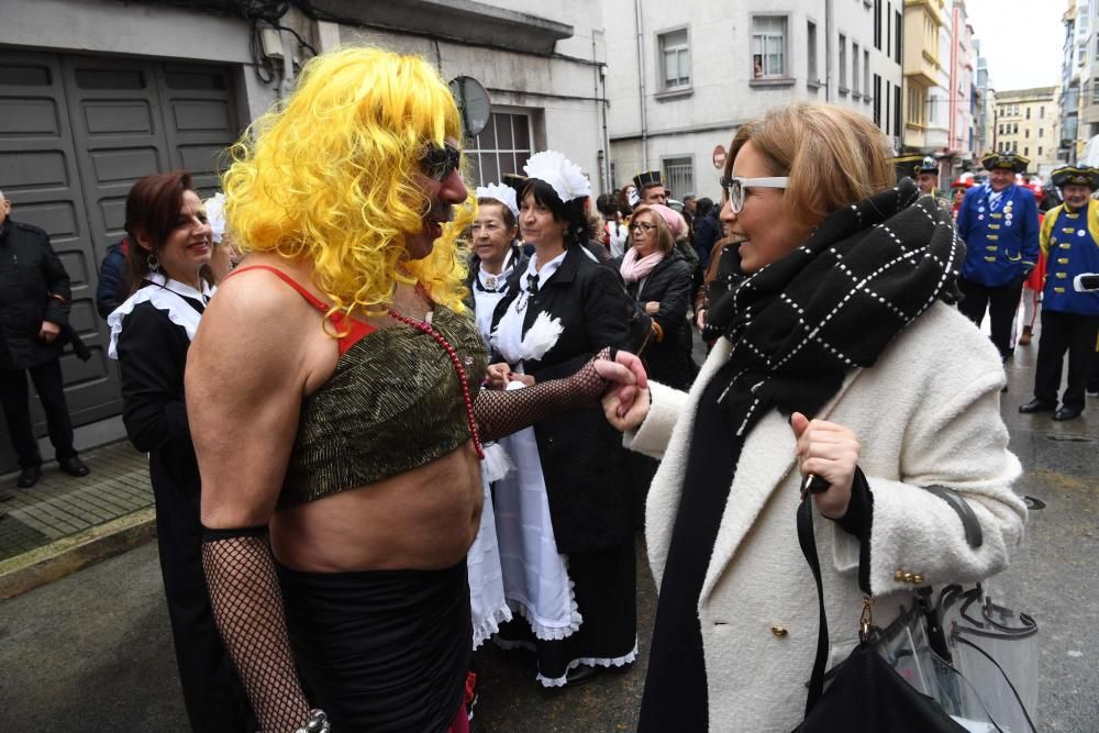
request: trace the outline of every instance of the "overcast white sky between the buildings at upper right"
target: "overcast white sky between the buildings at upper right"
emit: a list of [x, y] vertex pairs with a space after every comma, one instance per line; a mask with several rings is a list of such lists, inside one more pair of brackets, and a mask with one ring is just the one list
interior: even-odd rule
[[965, 5], [993, 89], [1061, 85], [1067, 0], [966, 0]]

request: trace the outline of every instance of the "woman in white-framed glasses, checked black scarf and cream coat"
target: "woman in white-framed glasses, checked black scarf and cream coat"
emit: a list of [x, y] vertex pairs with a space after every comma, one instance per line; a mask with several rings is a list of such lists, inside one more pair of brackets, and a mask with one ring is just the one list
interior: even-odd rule
[[[604, 399], [628, 445], [662, 458], [647, 500], [659, 588], [639, 730], [792, 730], [818, 647], [817, 587], [795, 527], [813, 495], [828, 667], [912, 591], [1002, 570], [1026, 510], [1000, 419], [999, 356], [952, 303], [963, 244], [881, 132], [799, 103], [742, 125], [722, 179], [722, 258], [690, 392]], [[737, 245], [730, 245], [737, 246]], [[722, 290], [723, 289], [723, 290]], [[955, 509], [984, 543], [970, 547]]]

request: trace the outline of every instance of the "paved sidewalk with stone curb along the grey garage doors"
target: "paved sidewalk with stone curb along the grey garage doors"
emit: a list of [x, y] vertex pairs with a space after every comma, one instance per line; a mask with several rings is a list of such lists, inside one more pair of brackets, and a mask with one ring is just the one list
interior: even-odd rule
[[0, 600], [155, 536], [146, 457], [122, 441], [80, 458], [82, 478], [54, 462], [31, 489], [0, 478]]

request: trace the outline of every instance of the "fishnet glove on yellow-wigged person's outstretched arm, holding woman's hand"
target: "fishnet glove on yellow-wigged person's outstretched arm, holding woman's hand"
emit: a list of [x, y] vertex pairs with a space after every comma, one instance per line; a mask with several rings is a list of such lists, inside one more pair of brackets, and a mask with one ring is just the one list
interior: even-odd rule
[[604, 348], [564, 379], [540, 381], [523, 389], [482, 389], [474, 401], [474, 419], [482, 441], [511, 435], [562, 412], [598, 407], [614, 382], [596, 371], [598, 359], [613, 360]]

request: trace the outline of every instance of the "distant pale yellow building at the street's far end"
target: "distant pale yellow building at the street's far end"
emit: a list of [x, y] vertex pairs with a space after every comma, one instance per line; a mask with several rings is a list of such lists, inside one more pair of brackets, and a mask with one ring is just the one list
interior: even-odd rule
[[1058, 165], [1057, 113], [1056, 87], [997, 91], [993, 147], [1030, 158], [1026, 173], [1047, 175]]

